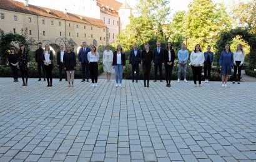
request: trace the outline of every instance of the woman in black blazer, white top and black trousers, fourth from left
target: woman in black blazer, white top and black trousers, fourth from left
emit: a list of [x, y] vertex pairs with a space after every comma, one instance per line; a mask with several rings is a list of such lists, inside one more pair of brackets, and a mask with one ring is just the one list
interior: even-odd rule
[[46, 69], [47, 87], [52, 87], [53, 54], [49, 44], [44, 45], [42, 60], [44, 61], [44, 69]]

